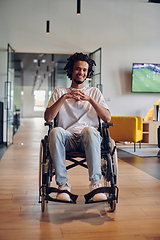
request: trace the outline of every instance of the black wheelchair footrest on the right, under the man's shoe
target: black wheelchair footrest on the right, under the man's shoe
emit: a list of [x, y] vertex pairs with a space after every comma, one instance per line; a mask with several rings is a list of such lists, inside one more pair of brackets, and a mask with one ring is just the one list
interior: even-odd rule
[[[109, 197], [106, 200], [93, 201], [92, 198], [97, 193], [109, 193]], [[100, 187], [100, 188], [96, 188], [93, 191], [91, 191], [91, 192], [87, 193], [86, 195], [84, 195], [84, 198], [86, 200], [85, 204], [87, 204], [87, 203], [97, 203], [97, 202], [109, 202], [109, 201], [117, 200], [117, 197], [115, 196], [115, 188], [114, 187]]]

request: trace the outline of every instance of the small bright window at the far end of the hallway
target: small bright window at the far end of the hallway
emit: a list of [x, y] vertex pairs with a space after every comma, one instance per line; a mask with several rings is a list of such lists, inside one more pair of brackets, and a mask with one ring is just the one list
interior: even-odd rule
[[45, 97], [46, 97], [46, 92], [44, 90], [35, 90], [34, 91], [34, 111], [44, 112]]

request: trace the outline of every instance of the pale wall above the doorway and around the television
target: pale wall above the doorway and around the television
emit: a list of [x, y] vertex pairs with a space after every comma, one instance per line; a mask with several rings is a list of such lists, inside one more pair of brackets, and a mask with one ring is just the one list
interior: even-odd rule
[[[0, 48], [10, 43], [17, 52], [68, 54], [102, 47], [102, 83], [112, 114], [144, 118], [160, 95], [131, 93], [131, 67], [133, 62], [160, 63], [160, 4], [85, 0], [77, 16], [76, 2], [0, 1]], [[45, 33], [48, 18], [49, 35]], [[28, 112], [29, 106], [25, 107]]]

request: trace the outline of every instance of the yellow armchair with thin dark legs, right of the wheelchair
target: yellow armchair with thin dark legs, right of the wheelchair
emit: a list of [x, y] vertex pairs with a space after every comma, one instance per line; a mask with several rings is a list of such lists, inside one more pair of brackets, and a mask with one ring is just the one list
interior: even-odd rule
[[115, 142], [141, 142], [143, 139], [143, 122], [141, 117], [133, 116], [112, 116], [111, 122], [114, 124], [109, 129], [110, 136]]

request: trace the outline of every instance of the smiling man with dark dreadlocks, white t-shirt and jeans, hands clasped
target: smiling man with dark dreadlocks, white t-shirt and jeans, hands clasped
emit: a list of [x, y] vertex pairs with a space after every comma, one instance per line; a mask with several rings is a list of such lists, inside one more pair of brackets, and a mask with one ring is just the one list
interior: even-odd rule
[[[65, 163], [65, 152], [85, 151], [90, 191], [101, 184], [101, 136], [98, 132], [98, 116], [105, 122], [111, 119], [104, 97], [96, 87], [84, 87], [84, 81], [93, 75], [95, 61], [83, 53], [68, 58], [65, 66], [71, 87], [58, 87], [52, 93], [44, 118], [50, 122], [57, 116], [58, 127], [49, 133], [49, 151], [55, 169], [58, 189], [70, 192]], [[58, 193], [57, 200], [70, 201], [66, 192]], [[103, 201], [105, 193], [98, 192], [93, 201]]]

